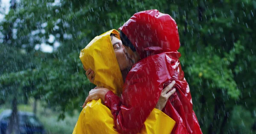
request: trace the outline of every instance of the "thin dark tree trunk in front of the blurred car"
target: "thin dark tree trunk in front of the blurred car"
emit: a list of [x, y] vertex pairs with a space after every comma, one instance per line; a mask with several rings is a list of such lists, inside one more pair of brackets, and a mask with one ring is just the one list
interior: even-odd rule
[[18, 109], [17, 109], [17, 96], [15, 95], [12, 100], [12, 114], [9, 120], [9, 125], [6, 131], [6, 134], [12, 134], [14, 131], [15, 134], [19, 134], [19, 117], [18, 117]]

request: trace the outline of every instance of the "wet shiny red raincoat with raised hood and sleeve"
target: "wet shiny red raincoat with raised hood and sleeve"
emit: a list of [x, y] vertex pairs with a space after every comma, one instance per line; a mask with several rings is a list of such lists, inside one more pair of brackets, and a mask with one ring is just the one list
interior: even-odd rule
[[119, 30], [140, 53], [141, 60], [128, 73], [121, 99], [111, 91], [105, 95], [116, 129], [120, 133], [137, 133], [156, 106], [162, 89], [175, 80], [176, 92], [163, 109], [176, 121], [172, 134], [202, 134], [180, 66], [175, 20], [157, 10], [141, 11]]

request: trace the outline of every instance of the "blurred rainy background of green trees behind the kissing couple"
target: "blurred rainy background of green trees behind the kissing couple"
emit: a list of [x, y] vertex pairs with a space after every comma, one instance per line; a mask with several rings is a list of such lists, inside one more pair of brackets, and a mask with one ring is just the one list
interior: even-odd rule
[[80, 50], [148, 9], [177, 22], [203, 133], [256, 134], [256, 0], [0, 0], [2, 129], [72, 133], [94, 87]]

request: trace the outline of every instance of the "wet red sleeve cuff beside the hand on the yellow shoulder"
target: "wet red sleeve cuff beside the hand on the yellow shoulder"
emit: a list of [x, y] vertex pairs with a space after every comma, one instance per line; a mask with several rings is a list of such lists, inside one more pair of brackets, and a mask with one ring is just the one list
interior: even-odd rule
[[121, 101], [118, 96], [116, 96], [112, 91], [108, 91], [105, 95], [105, 106], [107, 106], [114, 117], [116, 113], [120, 110]]

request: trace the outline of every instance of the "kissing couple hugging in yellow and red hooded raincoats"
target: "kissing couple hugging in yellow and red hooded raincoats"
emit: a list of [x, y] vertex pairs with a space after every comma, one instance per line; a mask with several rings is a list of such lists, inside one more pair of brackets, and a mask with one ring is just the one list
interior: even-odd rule
[[79, 57], [97, 87], [73, 134], [202, 134], [179, 47], [175, 20], [157, 10], [96, 36]]

